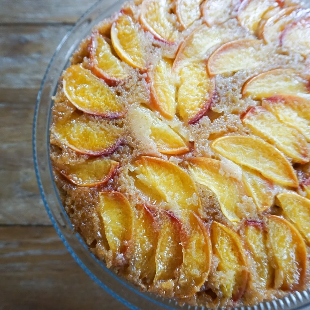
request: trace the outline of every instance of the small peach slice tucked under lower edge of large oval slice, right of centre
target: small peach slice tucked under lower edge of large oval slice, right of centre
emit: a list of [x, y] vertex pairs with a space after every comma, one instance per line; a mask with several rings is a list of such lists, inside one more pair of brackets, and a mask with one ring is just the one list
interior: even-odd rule
[[274, 201], [274, 186], [259, 172], [242, 167], [243, 182], [260, 211], [270, 208]]

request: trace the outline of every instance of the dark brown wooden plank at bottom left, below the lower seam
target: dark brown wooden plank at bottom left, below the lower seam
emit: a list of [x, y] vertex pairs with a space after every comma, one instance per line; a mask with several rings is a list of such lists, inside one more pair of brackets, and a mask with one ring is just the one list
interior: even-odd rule
[[52, 227], [0, 227], [0, 308], [127, 309], [73, 260]]

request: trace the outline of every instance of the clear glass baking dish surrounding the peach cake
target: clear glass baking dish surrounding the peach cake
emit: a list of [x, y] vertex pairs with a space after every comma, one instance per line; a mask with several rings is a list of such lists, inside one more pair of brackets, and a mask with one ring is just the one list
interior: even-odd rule
[[[33, 159], [38, 186], [51, 222], [70, 254], [81, 268], [114, 298], [130, 309], [187, 308], [189, 310], [202, 310], [205, 307], [180, 307], [174, 300], [141, 292], [139, 288], [109, 270], [103, 262], [91, 254], [80, 235], [73, 231], [54, 183], [49, 159], [49, 126], [53, 105], [51, 97], [56, 93], [58, 78], [69, 65], [69, 58], [73, 51], [78, 47], [81, 40], [91, 32], [92, 27], [117, 12], [123, 2], [123, 0], [114, 3], [109, 0], [99, 0], [95, 3], [62, 39], [47, 67], [38, 93], [33, 121]], [[290, 294], [284, 299], [260, 303], [254, 307], [238, 309], [310, 309], [310, 290]]]

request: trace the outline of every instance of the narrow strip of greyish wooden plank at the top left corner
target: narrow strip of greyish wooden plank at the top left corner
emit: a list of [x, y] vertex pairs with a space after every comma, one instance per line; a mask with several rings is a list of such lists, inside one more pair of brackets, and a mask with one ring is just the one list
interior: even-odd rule
[[0, 0], [1, 23], [75, 23], [97, 0]]

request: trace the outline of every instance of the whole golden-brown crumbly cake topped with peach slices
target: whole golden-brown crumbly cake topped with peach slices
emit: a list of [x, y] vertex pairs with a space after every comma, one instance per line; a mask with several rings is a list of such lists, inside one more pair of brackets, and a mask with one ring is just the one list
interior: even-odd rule
[[287, 1], [135, 1], [81, 42], [50, 157], [108, 268], [209, 308], [309, 287], [309, 16]]

